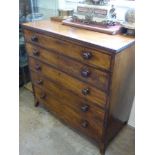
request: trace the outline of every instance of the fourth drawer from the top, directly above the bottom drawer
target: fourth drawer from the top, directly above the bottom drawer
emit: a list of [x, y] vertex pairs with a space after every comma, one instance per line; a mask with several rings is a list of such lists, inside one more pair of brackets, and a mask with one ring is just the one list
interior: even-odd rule
[[47, 80], [33, 71], [31, 72], [31, 79], [34, 85], [48, 90], [51, 93], [51, 97], [57, 98], [57, 100], [66, 104], [84, 118], [87, 117], [89, 121], [94, 120], [98, 125], [103, 123], [105, 112], [103, 109], [95, 106], [94, 103], [82, 100], [62, 86]]

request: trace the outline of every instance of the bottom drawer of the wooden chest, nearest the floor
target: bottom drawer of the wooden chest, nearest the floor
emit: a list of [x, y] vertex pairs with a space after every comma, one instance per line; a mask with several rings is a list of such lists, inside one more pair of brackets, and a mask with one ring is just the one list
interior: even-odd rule
[[44, 89], [40, 89], [34, 86], [36, 99], [43, 103], [52, 113], [54, 113], [63, 122], [78, 129], [79, 131], [87, 134], [95, 140], [101, 140], [103, 132], [103, 123], [96, 124], [94, 120], [88, 120], [81, 117], [79, 113], [68, 107], [66, 104], [58, 101], [57, 98], [51, 96], [51, 94]]

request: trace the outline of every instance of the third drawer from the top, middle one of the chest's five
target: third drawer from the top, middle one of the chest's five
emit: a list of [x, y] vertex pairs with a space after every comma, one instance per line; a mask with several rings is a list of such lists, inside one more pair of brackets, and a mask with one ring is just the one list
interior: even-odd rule
[[85, 82], [75, 79], [66, 73], [63, 73], [31, 57], [29, 57], [29, 65], [31, 70], [44, 75], [48, 79], [60, 84], [78, 96], [89, 101], [93, 101], [102, 107], [105, 106], [106, 94], [99, 89], [92, 87]]

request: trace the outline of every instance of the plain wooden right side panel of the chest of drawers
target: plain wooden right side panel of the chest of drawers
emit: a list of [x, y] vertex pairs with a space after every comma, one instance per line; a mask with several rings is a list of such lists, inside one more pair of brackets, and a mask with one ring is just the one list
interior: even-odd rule
[[111, 84], [107, 143], [127, 123], [135, 95], [135, 47], [115, 56]]

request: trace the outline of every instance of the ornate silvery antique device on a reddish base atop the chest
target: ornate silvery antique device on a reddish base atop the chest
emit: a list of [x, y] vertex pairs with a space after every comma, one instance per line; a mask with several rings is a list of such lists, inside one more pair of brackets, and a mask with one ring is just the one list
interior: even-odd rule
[[116, 34], [121, 28], [119, 22], [117, 22], [116, 9], [113, 5], [80, 4], [72, 18], [64, 20], [63, 24], [108, 34]]

